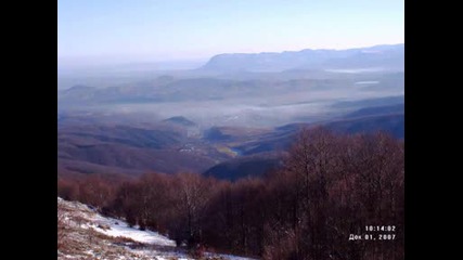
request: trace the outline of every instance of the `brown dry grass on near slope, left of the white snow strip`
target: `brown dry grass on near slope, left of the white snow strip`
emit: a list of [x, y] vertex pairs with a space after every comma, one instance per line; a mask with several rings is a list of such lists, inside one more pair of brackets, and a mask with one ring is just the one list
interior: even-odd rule
[[[123, 236], [107, 236], [101, 233], [103, 229], [111, 229], [97, 223], [92, 218], [97, 213], [79, 203], [69, 203], [59, 199], [57, 204], [57, 259], [59, 260], [178, 260], [178, 252], [163, 246], [145, 245]], [[182, 259], [226, 260], [218, 256], [187, 257]]]

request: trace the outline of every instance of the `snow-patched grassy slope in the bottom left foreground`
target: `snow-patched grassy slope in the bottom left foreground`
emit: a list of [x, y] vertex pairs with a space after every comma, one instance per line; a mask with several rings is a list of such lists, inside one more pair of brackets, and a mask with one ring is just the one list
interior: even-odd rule
[[[129, 227], [125, 221], [103, 217], [77, 202], [59, 197], [57, 206], [59, 259], [194, 260], [184, 250], [178, 249], [173, 240], [157, 232]], [[130, 246], [133, 242], [138, 245]], [[210, 252], [206, 252], [205, 257], [215, 260], [252, 260]]]

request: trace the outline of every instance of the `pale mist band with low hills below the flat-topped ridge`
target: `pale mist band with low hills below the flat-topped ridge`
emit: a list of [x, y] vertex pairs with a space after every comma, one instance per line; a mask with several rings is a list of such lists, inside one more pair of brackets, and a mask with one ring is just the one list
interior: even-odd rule
[[345, 80], [163, 80], [72, 88], [59, 92], [59, 112], [91, 112], [144, 122], [183, 116], [205, 128], [276, 127], [329, 120], [359, 108], [336, 106], [339, 102], [403, 95], [402, 74], [359, 75]]

